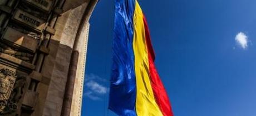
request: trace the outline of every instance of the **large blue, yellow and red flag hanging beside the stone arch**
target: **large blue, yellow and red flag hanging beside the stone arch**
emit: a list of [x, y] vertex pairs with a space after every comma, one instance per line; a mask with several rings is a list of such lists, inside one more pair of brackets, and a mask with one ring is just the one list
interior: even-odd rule
[[115, 0], [112, 49], [109, 109], [118, 115], [173, 116], [137, 0]]

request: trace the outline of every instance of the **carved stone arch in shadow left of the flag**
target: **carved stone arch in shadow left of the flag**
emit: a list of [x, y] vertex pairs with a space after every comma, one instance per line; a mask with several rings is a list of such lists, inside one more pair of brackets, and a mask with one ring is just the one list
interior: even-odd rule
[[0, 0], [0, 115], [81, 115], [97, 0]]

